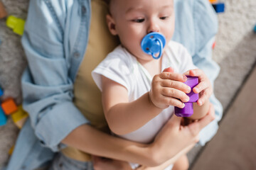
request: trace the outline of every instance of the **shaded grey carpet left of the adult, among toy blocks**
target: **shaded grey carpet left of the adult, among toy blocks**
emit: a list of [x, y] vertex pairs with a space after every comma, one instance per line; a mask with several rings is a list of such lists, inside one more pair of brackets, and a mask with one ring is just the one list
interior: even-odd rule
[[[9, 15], [26, 19], [28, 0], [3, 0]], [[21, 36], [6, 27], [6, 20], [0, 20], [0, 86], [4, 89], [4, 97], [15, 98], [21, 103], [21, 73], [26, 66], [25, 55], [21, 48]], [[9, 158], [9, 149], [14, 145], [18, 128], [9, 118], [7, 125], [0, 127], [0, 169]]]

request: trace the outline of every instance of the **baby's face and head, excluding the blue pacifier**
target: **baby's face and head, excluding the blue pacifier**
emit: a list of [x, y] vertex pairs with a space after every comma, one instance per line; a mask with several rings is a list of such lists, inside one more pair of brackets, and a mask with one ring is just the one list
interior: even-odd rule
[[[173, 0], [114, 0], [110, 8], [110, 31], [118, 35], [129, 52], [140, 60], [152, 60], [141, 49], [142, 38], [148, 33], [162, 33], [166, 43], [174, 34]], [[108, 17], [107, 17], [108, 18]]]

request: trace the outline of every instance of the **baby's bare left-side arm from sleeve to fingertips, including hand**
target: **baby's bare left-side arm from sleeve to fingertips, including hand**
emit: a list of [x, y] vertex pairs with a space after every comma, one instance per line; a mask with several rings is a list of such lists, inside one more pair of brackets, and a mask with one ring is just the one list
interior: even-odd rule
[[157, 74], [152, 80], [151, 91], [129, 102], [127, 89], [124, 86], [102, 76], [102, 105], [112, 132], [117, 135], [133, 132], [169, 105], [182, 108], [181, 101], [188, 101], [184, 91], [190, 91], [182, 81], [186, 81], [182, 74], [168, 72]]

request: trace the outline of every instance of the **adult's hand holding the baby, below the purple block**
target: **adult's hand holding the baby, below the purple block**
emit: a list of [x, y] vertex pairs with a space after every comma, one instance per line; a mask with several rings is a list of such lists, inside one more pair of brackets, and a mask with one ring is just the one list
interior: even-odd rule
[[205, 117], [187, 126], [181, 125], [181, 118], [174, 115], [151, 144], [151, 156], [155, 163], [162, 164], [169, 159], [174, 159], [175, 162], [179, 155], [188, 152], [198, 142], [199, 132], [214, 118], [213, 105], [210, 105]]

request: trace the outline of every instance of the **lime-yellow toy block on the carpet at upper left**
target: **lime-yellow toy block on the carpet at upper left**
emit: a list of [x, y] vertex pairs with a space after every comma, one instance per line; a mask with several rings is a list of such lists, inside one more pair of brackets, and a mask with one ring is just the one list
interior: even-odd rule
[[12, 28], [14, 33], [23, 35], [25, 21], [21, 18], [16, 18], [15, 16], [9, 16], [6, 21], [6, 26]]

